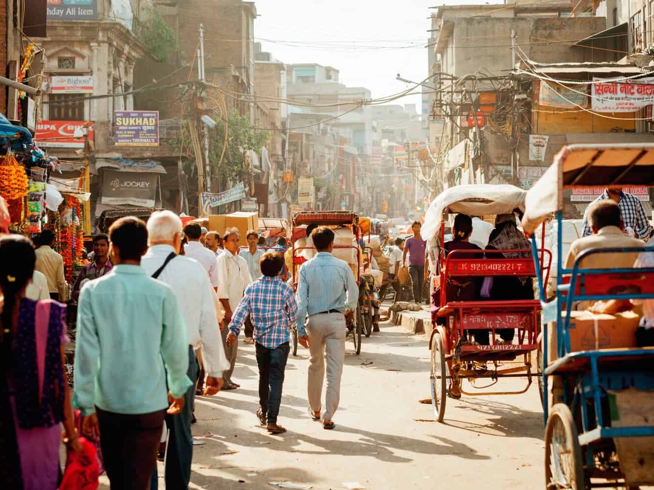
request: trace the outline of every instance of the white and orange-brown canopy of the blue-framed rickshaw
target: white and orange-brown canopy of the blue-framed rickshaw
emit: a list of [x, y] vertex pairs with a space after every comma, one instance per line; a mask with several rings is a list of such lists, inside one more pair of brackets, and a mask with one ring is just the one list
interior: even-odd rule
[[563, 208], [563, 189], [590, 186], [652, 186], [654, 144], [571, 144], [526, 194], [523, 228], [538, 225]]

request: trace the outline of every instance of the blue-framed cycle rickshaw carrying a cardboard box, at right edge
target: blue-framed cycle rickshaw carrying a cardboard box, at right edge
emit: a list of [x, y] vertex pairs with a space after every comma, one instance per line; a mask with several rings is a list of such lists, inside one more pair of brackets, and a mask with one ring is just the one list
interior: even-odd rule
[[[653, 184], [653, 144], [566, 146], [528, 191], [523, 227], [533, 233], [555, 215], [561, 250], [564, 189]], [[555, 297], [550, 302], [546, 302], [545, 285], [539, 284], [543, 324], [549, 324], [543, 328], [543, 359], [551, 361], [543, 370], [547, 489], [616, 485], [634, 489], [654, 483], [654, 349], [636, 348], [638, 320], [633, 338], [627, 335], [623, 345], [613, 342], [597, 319], [587, 333], [594, 339], [590, 348], [582, 350], [571, 343], [573, 334], [582, 333], [579, 322], [572, 321], [577, 301], [654, 298], [653, 268], [584, 269], [581, 261], [589, 255], [644, 250], [653, 249], [587, 250], [570, 269], [563, 267], [560, 257]], [[538, 270], [538, 263], [534, 265]], [[548, 339], [550, 329], [555, 339]], [[555, 352], [548, 352], [548, 342]]]

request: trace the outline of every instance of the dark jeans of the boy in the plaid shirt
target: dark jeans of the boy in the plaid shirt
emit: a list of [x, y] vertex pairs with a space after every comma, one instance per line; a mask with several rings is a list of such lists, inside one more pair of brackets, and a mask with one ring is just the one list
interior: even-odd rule
[[256, 344], [256, 363], [259, 366], [259, 405], [269, 424], [277, 423], [282, 402], [284, 369], [288, 360], [288, 342], [276, 349]]

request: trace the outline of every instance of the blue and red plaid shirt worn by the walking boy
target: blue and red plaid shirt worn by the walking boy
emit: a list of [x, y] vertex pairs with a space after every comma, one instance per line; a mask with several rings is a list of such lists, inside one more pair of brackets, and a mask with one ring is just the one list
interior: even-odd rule
[[238, 336], [243, 322], [250, 316], [254, 340], [269, 349], [288, 342], [290, 325], [298, 316], [298, 304], [292, 287], [279, 276], [261, 276], [245, 288], [245, 295], [230, 322], [230, 332]]

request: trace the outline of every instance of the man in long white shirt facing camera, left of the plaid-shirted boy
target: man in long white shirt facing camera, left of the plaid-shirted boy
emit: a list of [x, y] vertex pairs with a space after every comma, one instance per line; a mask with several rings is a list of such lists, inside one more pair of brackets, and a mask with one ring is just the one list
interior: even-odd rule
[[[236, 228], [225, 230], [222, 243], [225, 251], [218, 255], [218, 298], [225, 308], [225, 323], [232, 321], [232, 314], [243, 299], [245, 287], [252, 282], [247, 262], [239, 252], [239, 231]], [[230, 368], [223, 373], [223, 389], [235, 389], [240, 385], [232, 382], [232, 373], [236, 363], [238, 351], [238, 340], [231, 346], [227, 346], [227, 329], [223, 329], [222, 338], [225, 346], [227, 359], [230, 361]]]

